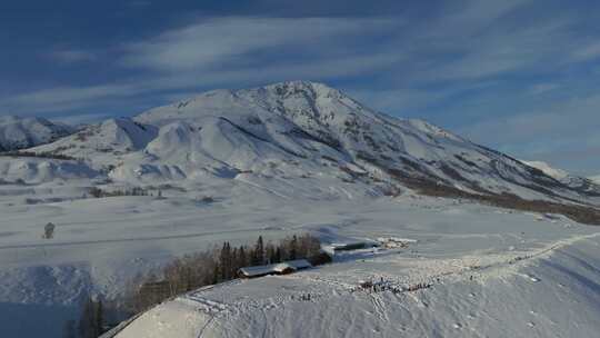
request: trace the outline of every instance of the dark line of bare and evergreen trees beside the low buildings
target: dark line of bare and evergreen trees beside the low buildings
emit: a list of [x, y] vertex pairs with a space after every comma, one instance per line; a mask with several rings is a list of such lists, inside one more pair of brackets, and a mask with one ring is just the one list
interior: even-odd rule
[[314, 266], [331, 261], [321, 251], [319, 239], [309, 233], [289, 236], [277, 242], [264, 241], [259, 236], [252, 246], [232, 246], [226, 241], [221, 246], [176, 258], [158, 270], [138, 276], [118, 301], [87, 297], [79, 320], [67, 321], [63, 336], [97, 338], [111, 327], [107, 318], [131, 317], [174, 296], [232, 280], [243, 267], [294, 259], [307, 259]]

